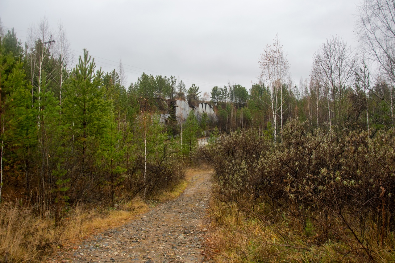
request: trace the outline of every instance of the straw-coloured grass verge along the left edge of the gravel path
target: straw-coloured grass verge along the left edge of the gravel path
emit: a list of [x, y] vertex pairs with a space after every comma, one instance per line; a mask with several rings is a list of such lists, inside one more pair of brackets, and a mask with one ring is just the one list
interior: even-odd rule
[[[175, 199], [187, 186], [188, 181], [182, 180], [155, 201]], [[3, 203], [0, 207], [0, 262], [45, 261], [62, 246], [70, 246], [94, 233], [125, 224], [149, 209], [150, 205], [141, 198], [113, 208], [78, 205], [55, 225], [50, 214], [40, 217], [32, 208]]]

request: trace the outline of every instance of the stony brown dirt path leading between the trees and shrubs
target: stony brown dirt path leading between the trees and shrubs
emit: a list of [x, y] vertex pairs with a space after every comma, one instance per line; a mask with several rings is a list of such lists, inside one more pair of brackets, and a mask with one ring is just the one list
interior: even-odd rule
[[211, 171], [189, 170], [189, 186], [179, 198], [162, 203], [117, 228], [64, 250], [55, 262], [200, 263]]

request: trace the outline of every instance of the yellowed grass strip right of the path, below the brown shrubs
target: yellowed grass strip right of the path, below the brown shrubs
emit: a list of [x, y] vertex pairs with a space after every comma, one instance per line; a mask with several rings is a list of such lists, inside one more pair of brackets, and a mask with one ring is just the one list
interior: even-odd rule
[[218, 200], [210, 205], [211, 233], [206, 245], [211, 251], [207, 255], [215, 262], [394, 262], [395, 237], [389, 237], [386, 248], [375, 250], [374, 259], [369, 260], [350, 253], [358, 246], [355, 242], [318, 241], [287, 218], [265, 222]]

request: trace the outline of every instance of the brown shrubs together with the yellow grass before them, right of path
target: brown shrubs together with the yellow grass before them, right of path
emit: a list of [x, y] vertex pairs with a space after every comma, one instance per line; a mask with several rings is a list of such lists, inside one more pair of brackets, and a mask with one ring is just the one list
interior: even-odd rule
[[395, 130], [284, 127], [201, 149], [214, 167], [207, 240], [220, 262], [393, 262]]

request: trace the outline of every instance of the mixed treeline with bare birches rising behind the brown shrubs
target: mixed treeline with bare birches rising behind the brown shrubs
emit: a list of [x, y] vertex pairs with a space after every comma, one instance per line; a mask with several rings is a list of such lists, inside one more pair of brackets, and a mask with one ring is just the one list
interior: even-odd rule
[[211, 89], [211, 100], [218, 106], [218, 129], [229, 133], [256, 128], [281, 141], [282, 127], [296, 118], [308, 121], [313, 129], [374, 134], [393, 127], [393, 71], [372, 74], [368, 59], [352, 52], [339, 36], [322, 43], [313, 61], [310, 78], [293, 84], [290, 65], [276, 38], [261, 55], [259, 81], [248, 91], [230, 84]]

